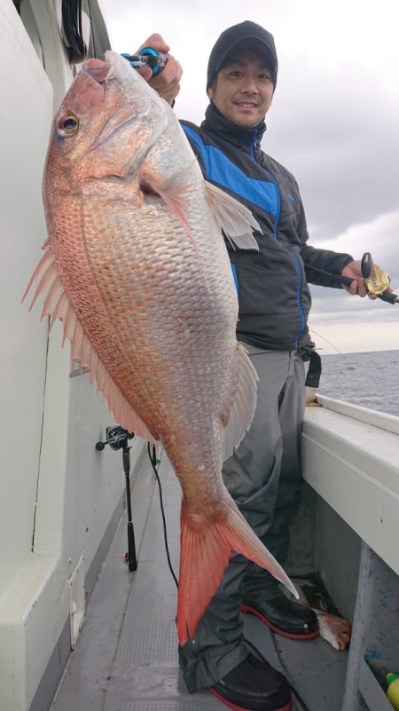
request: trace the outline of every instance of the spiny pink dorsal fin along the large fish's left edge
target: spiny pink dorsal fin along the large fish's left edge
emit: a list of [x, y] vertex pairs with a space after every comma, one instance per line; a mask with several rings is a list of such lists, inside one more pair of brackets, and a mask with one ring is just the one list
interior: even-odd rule
[[37, 297], [42, 296], [44, 304], [41, 320], [44, 316], [50, 316], [50, 328], [57, 319], [62, 322], [64, 328], [62, 344], [64, 345], [66, 338], [71, 342], [71, 361], [80, 360], [81, 366], [89, 369], [90, 384], [96, 380], [97, 391], [104, 394], [115, 421], [121, 424], [125, 430], [134, 432], [137, 437], [156, 444], [158, 438], [148, 430], [137, 412], [129, 405], [128, 400], [114, 383], [106, 366], [99, 358], [98, 352], [90, 342], [90, 338], [87, 336], [81, 320], [78, 319], [59, 279], [55, 260], [47, 243], [44, 245], [44, 249], [44, 256], [32, 274], [22, 301], [35, 282], [37, 284], [35, 296], [29, 306], [29, 311], [35, 304]]

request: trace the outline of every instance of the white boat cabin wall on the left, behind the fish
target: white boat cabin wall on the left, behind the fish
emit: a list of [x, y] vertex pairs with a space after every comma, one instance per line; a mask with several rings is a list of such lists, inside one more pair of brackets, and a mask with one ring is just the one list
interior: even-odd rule
[[[2, 711], [32, 706], [51, 655], [58, 682], [71, 615], [77, 635], [123, 505], [120, 456], [95, 450], [113, 424], [106, 405], [86, 374], [70, 376], [59, 324], [49, 338], [41, 304], [32, 313], [21, 305], [46, 239], [41, 188], [51, 118], [73, 79], [61, 4], [23, 0], [19, 15], [12, 0], [0, 2]], [[97, 0], [83, 10], [100, 57], [110, 44]], [[133, 444], [132, 469], [142, 449]]]

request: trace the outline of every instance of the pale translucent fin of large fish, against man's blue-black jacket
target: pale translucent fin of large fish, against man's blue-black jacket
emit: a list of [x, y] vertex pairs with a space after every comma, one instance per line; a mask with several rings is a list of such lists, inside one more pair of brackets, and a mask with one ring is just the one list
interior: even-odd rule
[[258, 252], [259, 247], [253, 232], [262, 230], [250, 210], [207, 180], [205, 186], [216, 224], [231, 244], [239, 249], [256, 249]]

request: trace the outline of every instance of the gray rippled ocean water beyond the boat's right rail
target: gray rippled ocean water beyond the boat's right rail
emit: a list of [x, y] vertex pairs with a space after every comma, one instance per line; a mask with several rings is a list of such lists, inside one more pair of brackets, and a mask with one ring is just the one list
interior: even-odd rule
[[399, 351], [320, 355], [317, 392], [399, 416]]

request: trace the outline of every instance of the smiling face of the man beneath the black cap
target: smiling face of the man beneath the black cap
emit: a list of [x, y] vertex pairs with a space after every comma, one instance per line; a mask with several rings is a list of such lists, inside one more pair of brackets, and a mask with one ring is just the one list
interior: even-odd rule
[[225, 118], [252, 129], [267, 114], [273, 91], [263, 59], [252, 51], [240, 51], [217, 73], [207, 95]]

